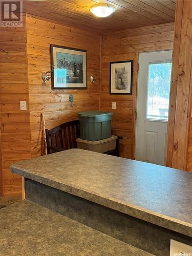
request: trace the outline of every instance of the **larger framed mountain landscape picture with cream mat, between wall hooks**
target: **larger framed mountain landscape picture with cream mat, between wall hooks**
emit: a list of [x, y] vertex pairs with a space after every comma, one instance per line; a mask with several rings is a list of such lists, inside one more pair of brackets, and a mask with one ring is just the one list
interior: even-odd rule
[[87, 89], [87, 50], [51, 45], [54, 89]]

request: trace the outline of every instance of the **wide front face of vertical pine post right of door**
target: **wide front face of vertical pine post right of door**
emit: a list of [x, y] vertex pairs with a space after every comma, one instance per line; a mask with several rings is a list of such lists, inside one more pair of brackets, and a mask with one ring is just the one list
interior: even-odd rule
[[[184, 1], [181, 29], [181, 44], [179, 52], [178, 88], [176, 97], [176, 112], [174, 126], [174, 152], [172, 166], [186, 169], [191, 75], [191, 31], [192, 31], [192, 2]], [[183, 125], [185, 123], [185, 125]], [[182, 134], [182, 136], [181, 136]]]

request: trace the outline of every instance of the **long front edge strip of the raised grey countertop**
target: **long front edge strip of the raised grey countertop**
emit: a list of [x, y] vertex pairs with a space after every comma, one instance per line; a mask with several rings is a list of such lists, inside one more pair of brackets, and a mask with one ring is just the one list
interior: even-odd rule
[[[191, 237], [192, 224], [190, 223], [180, 221], [178, 219], [171, 218], [162, 214], [158, 214], [157, 212], [137, 207], [135, 205], [127, 205], [118, 201], [113, 201], [100, 195], [90, 193], [89, 191], [83, 190], [81, 188], [59, 183], [57, 181], [53, 181], [48, 178], [29, 173], [25, 169], [18, 169], [17, 167], [14, 167], [14, 164], [11, 165], [11, 172], [25, 178], [40, 182], [42, 184], [57, 188], [61, 191], [65, 191], [66, 193], [72, 194], [74, 196], [78, 196], [83, 199], [109, 207], [111, 209], [122, 212], [123, 214], [130, 215], [137, 219], [141, 219], [153, 223], [157, 226], [161, 226]], [[51, 185], [50, 181], [52, 183]]]

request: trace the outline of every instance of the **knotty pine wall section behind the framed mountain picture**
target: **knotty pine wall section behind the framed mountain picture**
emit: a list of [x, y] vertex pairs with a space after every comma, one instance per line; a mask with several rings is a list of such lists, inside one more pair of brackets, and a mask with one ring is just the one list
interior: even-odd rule
[[[42, 81], [41, 74], [51, 66], [50, 44], [87, 50], [87, 90], [51, 90], [51, 80]], [[99, 73], [100, 35], [27, 16], [27, 53], [31, 156], [37, 157], [44, 151], [41, 113], [44, 113], [46, 127], [52, 129], [78, 119], [78, 112], [99, 109], [99, 79], [91, 83], [89, 77]], [[69, 103], [70, 94], [74, 95], [73, 108]]]

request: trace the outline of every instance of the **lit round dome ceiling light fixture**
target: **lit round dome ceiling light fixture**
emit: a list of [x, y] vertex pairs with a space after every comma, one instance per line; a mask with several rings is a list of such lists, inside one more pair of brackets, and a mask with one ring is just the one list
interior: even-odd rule
[[107, 17], [115, 12], [115, 8], [109, 4], [97, 4], [92, 6], [90, 11], [97, 17]]

